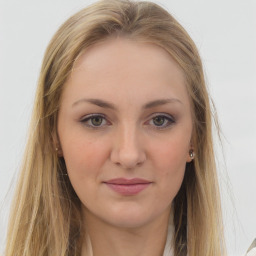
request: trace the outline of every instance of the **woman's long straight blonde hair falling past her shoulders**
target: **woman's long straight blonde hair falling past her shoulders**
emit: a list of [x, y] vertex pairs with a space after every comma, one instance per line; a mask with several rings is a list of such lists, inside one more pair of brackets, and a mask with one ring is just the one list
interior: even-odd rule
[[29, 139], [13, 201], [6, 256], [81, 254], [81, 202], [54, 148], [63, 85], [90, 45], [127, 36], [164, 48], [186, 77], [196, 157], [174, 199], [175, 256], [225, 254], [212, 115], [197, 48], [183, 27], [151, 2], [99, 1], [69, 18], [51, 40], [40, 72]]

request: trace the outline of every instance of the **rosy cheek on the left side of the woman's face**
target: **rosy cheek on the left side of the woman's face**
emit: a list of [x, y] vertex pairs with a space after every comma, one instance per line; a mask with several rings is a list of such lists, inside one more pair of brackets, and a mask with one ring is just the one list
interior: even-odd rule
[[63, 156], [70, 182], [80, 200], [86, 204], [95, 198], [95, 184], [100, 182], [107, 147], [102, 142], [79, 136], [63, 141]]

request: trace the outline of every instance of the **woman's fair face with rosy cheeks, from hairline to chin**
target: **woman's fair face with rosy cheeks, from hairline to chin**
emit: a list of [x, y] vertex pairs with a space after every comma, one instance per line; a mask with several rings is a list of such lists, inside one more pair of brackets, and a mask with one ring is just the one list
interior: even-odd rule
[[78, 59], [58, 136], [85, 217], [135, 228], [169, 212], [191, 134], [183, 73], [162, 48], [107, 39]]

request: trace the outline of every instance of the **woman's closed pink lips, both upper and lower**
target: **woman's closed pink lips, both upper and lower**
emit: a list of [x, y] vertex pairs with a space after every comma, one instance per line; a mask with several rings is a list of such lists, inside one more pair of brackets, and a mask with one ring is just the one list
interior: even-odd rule
[[140, 178], [117, 178], [103, 183], [115, 192], [125, 196], [136, 195], [152, 184], [151, 181]]

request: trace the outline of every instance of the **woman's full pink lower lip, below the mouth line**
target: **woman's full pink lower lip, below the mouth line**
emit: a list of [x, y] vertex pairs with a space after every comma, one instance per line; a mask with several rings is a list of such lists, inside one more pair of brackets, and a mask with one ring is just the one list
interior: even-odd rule
[[111, 184], [105, 183], [116, 191], [117, 193], [125, 196], [136, 195], [140, 193], [142, 190], [146, 189], [151, 183], [143, 183], [143, 184]]

